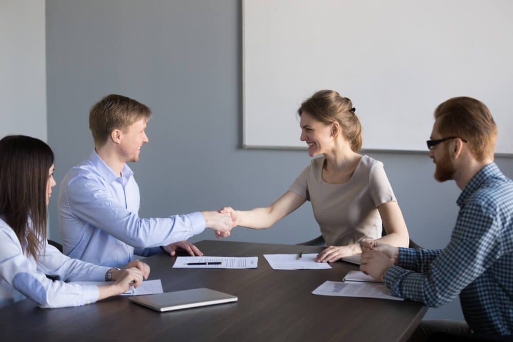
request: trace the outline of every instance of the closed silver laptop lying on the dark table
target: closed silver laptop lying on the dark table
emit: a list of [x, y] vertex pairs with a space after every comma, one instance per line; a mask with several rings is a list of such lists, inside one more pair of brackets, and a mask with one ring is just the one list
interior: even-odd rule
[[171, 311], [202, 307], [207, 305], [230, 303], [239, 298], [207, 288], [184, 291], [148, 294], [129, 298], [134, 303], [143, 305], [156, 311]]

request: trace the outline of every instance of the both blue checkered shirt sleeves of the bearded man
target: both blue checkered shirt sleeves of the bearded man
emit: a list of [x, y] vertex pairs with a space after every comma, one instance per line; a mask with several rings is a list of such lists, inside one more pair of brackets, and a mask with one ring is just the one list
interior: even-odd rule
[[[497, 215], [478, 202], [469, 203], [458, 215], [451, 242], [442, 251], [400, 250], [404, 267], [391, 267], [384, 277], [391, 294], [440, 307], [455, 298], [500, 256]], [[431, 262], [430, 262], [431, 261]], [[418, 270], [419, 273], [405, 268]]]

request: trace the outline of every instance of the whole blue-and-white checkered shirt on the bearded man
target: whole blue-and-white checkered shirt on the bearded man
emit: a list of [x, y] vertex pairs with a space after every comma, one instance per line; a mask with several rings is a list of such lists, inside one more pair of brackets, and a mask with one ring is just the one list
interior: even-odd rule
[[456, 202], [444, 249], [399, 249], [384, 277], [391, 294], [440, 307], [460, 294], [469, 327], [513, 334], [513, 182], [495, 163], [472, 177]]

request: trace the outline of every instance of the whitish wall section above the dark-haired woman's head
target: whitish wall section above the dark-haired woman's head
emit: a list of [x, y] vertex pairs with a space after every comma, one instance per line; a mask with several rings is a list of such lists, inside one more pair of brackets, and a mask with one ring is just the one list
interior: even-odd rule
[[0, 0], [0, 137], [47, 140], [44, 0]]

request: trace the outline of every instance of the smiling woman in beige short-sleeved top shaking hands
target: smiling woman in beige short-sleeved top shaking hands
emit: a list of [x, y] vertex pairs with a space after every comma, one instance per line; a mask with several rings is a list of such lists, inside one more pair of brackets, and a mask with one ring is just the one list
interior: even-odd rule
[[306, 200], [328, 246], [318, 262], [332, 262], [360, 254], [361, 242], [381, 242], [408, 247], [409, 236], [383, 163], [358, 152], [362, 127], [351, 100], [333, 90], [321, 90], [298, 110], [301, 140], [308, 144], [311, 163], [289, 190], [265, 208], [248, 211], [224, 207], [233, 225], [269, 228]]

